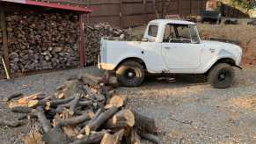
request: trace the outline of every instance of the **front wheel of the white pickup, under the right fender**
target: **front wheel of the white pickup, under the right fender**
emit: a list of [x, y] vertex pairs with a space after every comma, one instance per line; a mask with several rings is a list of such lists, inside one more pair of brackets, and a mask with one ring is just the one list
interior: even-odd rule
[[218, 63], [208, 73], [208, 82], [217, 89], [226, 89], [231, 86], [235, 76], [230, 64]]

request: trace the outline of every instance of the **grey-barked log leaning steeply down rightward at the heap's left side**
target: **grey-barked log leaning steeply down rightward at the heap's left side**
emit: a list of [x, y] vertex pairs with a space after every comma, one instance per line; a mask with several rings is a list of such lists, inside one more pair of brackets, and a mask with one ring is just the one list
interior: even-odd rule
[[46, 118], [43, 108], [41, 106], [37, 107], [35, 114], [39, 119], [44, 132], [48, 133], [48, 131], [52, 128], [52, 126], [50, 121]]

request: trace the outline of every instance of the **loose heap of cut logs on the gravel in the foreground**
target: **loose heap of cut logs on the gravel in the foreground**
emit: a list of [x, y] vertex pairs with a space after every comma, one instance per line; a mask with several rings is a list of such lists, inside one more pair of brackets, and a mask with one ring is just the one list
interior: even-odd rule
[[[127, 108], [127, 97], [118, 95], [109, 80], [105, 77], [96, 84], [90, 77], [75, 76], [58, 87], [54, 97], [15, 94], [5, 101], [11, 112], [28, 113], [31, 130], [25, 144], [138, 144], [141, 138], [161, 143], [154, 119]], [[20, 126], [25, 120], [0, 125]]]

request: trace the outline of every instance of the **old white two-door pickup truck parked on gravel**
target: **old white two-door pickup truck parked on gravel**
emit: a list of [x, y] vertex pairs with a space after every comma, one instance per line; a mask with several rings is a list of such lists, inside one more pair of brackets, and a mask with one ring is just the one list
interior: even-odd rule
[[99, 68], [115, 71], [119, 83], [134, 87], [146, 74], [204, 74], [214, 87], [230, 87], [233, 67], [239, 67], [237, 45], [201, 40], [197, 26], [188, 21], [150, 21], [142, 41], [101, 40]]

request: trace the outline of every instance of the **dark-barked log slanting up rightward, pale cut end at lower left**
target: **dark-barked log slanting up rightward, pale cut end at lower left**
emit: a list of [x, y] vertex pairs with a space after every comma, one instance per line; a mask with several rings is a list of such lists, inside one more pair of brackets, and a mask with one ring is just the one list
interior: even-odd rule
[[92, 131], [96, 131], [99, 128], [99, 126], [102, 126], [103, 123], [106, 122], [107, 119], [113, 117], [113, 114], [117, 111], [118, 107], [112, 107], [106, 112], [101, 113], [97, 119], [92, 120], [85, 126], [85, 134], [89, 135]]

